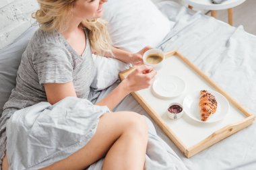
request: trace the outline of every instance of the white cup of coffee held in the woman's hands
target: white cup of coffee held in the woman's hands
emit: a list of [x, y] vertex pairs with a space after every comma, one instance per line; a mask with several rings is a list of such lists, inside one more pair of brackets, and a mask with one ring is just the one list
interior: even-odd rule
[[143, 54], [143, 64], [154, 67], [156, 71], [159, 71], [164, 65], [164, 52], [156, 48], [146, 51]]

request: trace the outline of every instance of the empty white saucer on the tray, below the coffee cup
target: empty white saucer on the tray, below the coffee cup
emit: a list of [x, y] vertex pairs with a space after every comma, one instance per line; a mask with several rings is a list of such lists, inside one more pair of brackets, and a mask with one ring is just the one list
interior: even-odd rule
[[160, 97], [177, 97], [185, 90], [186, 84], [183, 79], [174, 75], [161, 75], [156, 78], [152, 85], [154, 93]]

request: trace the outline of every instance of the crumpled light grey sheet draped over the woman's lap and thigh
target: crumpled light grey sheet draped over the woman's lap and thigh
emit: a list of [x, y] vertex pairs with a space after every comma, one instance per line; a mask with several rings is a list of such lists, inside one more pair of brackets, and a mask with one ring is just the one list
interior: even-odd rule
[[106, 112], [77, 97], [16, 111], [6, 126], [9, 169], [40, 169], [65, 159], [86, 145]]

